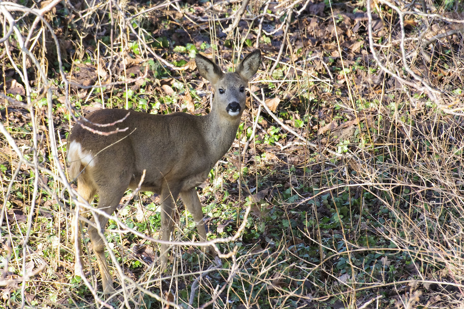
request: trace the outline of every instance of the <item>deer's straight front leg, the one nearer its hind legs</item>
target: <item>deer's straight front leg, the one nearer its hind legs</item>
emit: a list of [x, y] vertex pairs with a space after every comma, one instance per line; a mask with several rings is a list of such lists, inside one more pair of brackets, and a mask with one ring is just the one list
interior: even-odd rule
[[[174, 188], [169, 188], [165, 185], [161, 189], [161, 240], [169, 241], [174, 227], [174, 206], [175, 200], [179, 195], [179, 191]], [[161, 272], [165, 271], [168, 265], [168, 244], [161, 244]]]

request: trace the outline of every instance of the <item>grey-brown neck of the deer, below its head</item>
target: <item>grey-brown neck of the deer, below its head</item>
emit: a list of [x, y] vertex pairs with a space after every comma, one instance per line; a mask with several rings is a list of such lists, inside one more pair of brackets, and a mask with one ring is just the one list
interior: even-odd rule
[[212, 111], [204, 118], [205, 139], [209, 145], [210, 156], [216, 163], [231, 147], [237, 135], [240, 117], [224, 117], [219, 114], [217, 109]]

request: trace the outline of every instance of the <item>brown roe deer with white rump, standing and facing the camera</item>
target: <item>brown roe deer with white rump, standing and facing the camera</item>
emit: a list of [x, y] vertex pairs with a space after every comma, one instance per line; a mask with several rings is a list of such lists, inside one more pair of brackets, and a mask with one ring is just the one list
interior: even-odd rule
[[[98, 193], [98, 208], [108, 214], [115, 211], [126, 189], [137, 187], [146, 170], [141, 190], [161, 195], [162, 240], [170, 240], [175, 200], [180, 195], [196, 222], [200, 240], [206, 241], [203, 212], [195, 187], [206, 180], [235, 139], [245, 109], [245, 87], [258, 70], [261, 52], [251, 52], [234, 73], [223, 73], [218, 65], [200, 54], [195, 61], [201, 76], [213, 83], [214, 101], [209, 114], [153, 115], [130, 111], [117, 124], [129, 127], [125, 132], [102, 136], [76, 125], [68, 139], [70, 177], [77, 177], [77, 192], [89, 203]], [[127, 113], [123, 109], [102, 109], [89, 114], [87, 119], [107, 124], [123, 119]], [[115, 130], [115, 126], [90, 127], [104, 132]], [[98, 221], [104, 229], [108, 219], [98, 215]], [[103, 240], [93, 226], [89, 226], [88, 233], [97, 256], [103, 293], [110, 294], [114, 292], [113, 280], [106, 264]], [[168, 245], [162, 244], [162, 270], [168, 262], [167, 251]], [[82, 261], [82, 256], [76, 259]]]

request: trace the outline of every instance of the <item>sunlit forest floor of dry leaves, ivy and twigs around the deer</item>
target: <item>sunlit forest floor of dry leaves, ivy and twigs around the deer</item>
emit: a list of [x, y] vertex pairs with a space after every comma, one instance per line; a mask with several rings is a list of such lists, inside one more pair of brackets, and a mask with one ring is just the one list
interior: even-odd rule
[[[464, 308], [460, 1], [251, 0], [241, 19], [238, 0], [116, 2], [0, 3], [0, 308]], [[256, 48], [237, 139], [198, 188], [231, 256], [173, 246], [160, 273], [159, 196], [128, 190], [105, 300], [86, 226], [74, 273], [71, 127], [208, 114], [195, 55], [232, 71]], [[198, 240], [177, 206], [176, 238]]]

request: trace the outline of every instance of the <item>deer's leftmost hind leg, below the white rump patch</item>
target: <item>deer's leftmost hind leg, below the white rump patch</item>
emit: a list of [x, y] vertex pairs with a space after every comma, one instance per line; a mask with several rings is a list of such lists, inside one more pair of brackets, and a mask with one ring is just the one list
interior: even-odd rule
[[[80, 197], [77, 199], [78, 202], [88, 202], [89, 204], [93, 201], [94, 196], [95, 196], [96, 189], [94, 186], [85, 179], [84, 174], [79, 176], [77, 178], [77, 193], [80, 195]], [[82, 199], [81, 199], [82, 198]], [[79, 214], [74, 214], [74, 216], [79, 216]], [[72, 220], [74, 222], [74, 220]], [[82, 224], [80, 221], [78, 221], [78, 225], [75, 226], [74, 224], [71, 225], [71, 242], [74, 244], [74, 241], [76, 240], [75, 236], [77, 233], [77, 249], [78, 249], [78, 254], [75, 256], [75, 263], [74, 263], [74, 273], [78, 276], [80, 276], [80, 271], [77, 269], [77, 260], [80, 261], [80, 264], [82, 268], [84, 268], [84, 260], [82, 259], [82, 235], [81, 235], [81, 227]]]

